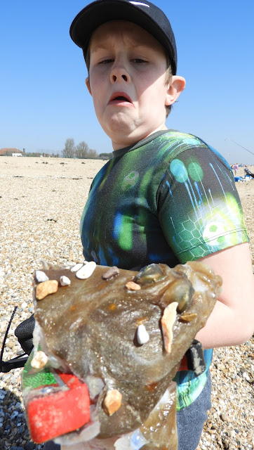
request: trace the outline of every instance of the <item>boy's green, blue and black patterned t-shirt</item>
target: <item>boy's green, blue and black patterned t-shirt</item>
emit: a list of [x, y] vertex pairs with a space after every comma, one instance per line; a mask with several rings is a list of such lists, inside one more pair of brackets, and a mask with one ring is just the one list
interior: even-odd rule
[[[185, 264], [248, 242], [234, 176], [201, 139], [158, 131], [114, 157], [95, 176], [81, 217], [83, 255], [121, 269]], [[205, 351], [207, 368], [212, 350]], [[178, 409], [206, 383], [179, 372]]]

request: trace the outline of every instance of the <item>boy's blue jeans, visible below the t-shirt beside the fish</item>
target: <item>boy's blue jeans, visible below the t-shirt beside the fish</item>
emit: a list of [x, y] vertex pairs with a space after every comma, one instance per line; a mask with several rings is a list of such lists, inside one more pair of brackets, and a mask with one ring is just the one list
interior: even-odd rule
[[[178, 411], [176, 421], [178, 425], [178, 450], [195, 450], [199, 444], [203, 424], [206, 422], [210, 409], [211, 381], [210, 371], [207, 373], [206, 385], [199, 397], [189, 406]], [[49, 441], [44, 450], [60, 450], [60, 445]]]

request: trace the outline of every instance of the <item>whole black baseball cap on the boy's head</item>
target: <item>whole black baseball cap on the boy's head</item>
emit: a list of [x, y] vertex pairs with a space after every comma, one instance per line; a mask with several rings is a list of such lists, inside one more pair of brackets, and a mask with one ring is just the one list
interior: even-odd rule
[[171, 24], [163, 11], [147, 0], [96, 0], [83, 8], [74, 18], [69, 34], [83, 50], [85, 59], [93, 32], [109, 20], [128, 20], [152, 34], [166, 49], [175, 75], [177, 51]]

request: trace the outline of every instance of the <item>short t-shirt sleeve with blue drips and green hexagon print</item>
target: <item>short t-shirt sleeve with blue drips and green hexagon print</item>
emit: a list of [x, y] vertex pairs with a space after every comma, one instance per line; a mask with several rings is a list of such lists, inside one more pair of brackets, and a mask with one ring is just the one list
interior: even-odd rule
[[156, 199], [161, 229], [182, 264], [248, 242], [232, 170], [212, 148], [178, 154]]

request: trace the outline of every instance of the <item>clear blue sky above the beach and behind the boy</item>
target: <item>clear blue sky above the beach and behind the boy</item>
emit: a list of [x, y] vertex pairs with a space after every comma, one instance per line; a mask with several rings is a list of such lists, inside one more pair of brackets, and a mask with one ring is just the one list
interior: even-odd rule
[[[81, 49], [69, 37], [89, 1], [0, 2], [0, 148], [60, 153], [67, 138], [111, 152], [86, 91]], [[254, 164], [253, 0], [156, 0], [187, 80], [166, 125], [196, 134], [229, 162]], [[227, 140], [225, 140], [227, 139]], [[232, 142], [235, 141], [236, 143]]]

